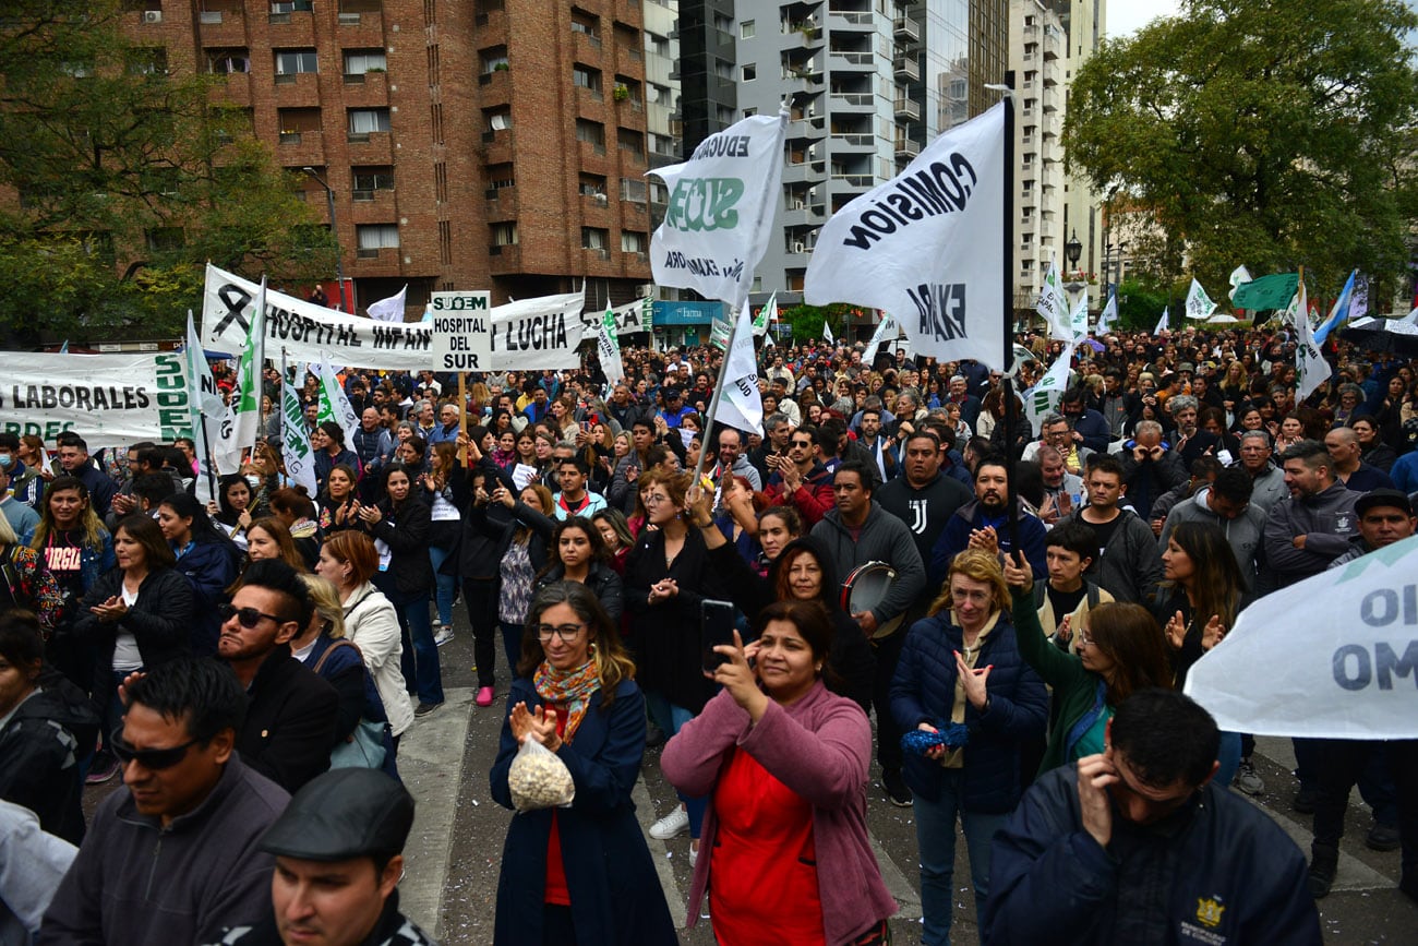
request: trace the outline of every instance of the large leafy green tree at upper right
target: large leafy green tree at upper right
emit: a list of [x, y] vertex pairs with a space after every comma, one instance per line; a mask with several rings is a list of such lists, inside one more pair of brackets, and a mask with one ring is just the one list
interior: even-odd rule
[[1129, 234], [1129, 267], [1170, 281], [1185, 251], [1212, 292], [1241, 262], [1303, 264], [1336, 291], [1354, 267], [1397, 277], [1418, 208], [1415, 27], [1397, 0], [1183, 0], [1103, 43], [1064, 146], [1110, 211], [1156, 223]]

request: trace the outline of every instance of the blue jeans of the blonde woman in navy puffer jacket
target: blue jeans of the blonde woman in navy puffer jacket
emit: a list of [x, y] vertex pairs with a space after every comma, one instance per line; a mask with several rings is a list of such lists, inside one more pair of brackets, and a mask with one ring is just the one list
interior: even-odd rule
[[947, 769], [944, 776], [939, 801], [927, 801], [919, 794], [912, 801], [916, 813], [916, 845], [920, 850], [920, 911], [925, 913], [920, 942], [926, 946], [950, 946], [957, 816], [970, 855], [977, 919], [990, 892], [990, 841], [1007, 817], [966, 811], [960, 806], [964, 773]]

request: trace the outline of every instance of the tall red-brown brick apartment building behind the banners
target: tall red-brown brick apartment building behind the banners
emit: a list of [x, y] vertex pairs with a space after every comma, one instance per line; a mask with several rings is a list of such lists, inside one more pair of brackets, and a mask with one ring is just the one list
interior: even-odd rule
[[[624, 302], [649, 282], [641, 0], [136, 0], [302, 174], [364, 306], [408, 284]], [[332, 274], [333, 277], [333, 274]]]

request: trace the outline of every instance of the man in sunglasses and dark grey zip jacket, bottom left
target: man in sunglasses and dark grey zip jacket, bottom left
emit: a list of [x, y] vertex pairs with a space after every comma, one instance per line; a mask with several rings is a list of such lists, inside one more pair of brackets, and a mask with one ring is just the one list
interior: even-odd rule
[[99, 803], [35, 943], [200, 943], [271, 912], [257, 840], [289, 796], [234, 750], [245, 695], [210, 658], [128, 685], [112, 749], [123, 790]]

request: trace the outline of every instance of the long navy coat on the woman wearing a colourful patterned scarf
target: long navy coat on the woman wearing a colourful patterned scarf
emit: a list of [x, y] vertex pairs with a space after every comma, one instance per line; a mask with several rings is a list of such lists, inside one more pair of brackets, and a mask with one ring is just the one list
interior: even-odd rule
[[[527, 709], [542, 705], [526, 677], [512, 681], [508, 718], [519, 702]], [[508, 770], [518, 747], [512, 726], [503, 719], [502, 745], [489, 780], [492, 798], [508, 808], [512, 807]], [[556, 808], [576, 923], [576, 943], [566, 946], [679, 943], [630, 797], [644, 753], [645, 698], [628, 679], [615, 688], [615, 702], [608, 709], [601, 706], [600, 695], [591, 701], [576, 739], [557, 753], [576, 781], [571, 807]], [[550, 810], [516, 814], [508, 825], [498, 878], [496, 946], [542, 946], [550, 833]]]

